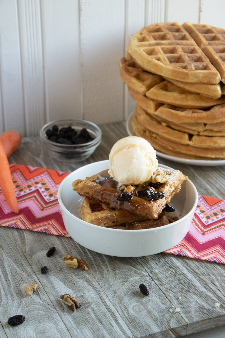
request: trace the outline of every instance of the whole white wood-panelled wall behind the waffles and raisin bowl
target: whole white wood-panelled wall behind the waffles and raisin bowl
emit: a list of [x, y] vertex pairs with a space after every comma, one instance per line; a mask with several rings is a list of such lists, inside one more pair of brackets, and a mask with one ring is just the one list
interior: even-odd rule
[[224, 12], [224, 0], [0, 0], [0, 133], [127, 119], [135, 103], [118, 63], [132, 33], [164, 21], [225, 28]]

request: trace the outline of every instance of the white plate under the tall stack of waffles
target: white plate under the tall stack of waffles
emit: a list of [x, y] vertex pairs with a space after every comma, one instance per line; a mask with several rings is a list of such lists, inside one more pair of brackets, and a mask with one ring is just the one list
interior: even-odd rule
[[[135, 136], [135, 133], [133, 131], [132, 127], [132, 117], [133, 114], [128, 118], [126, 121], [126, 130], [129, 134], [129, 136]], [[179, 162], [179, 163], [185, 163], [185, 164], [191, 164], [194, 166], [210, 166], [210, 167], [215, 167], [215, 166], [224, 166], [225, 165], [225, 160], [215, 160], [215, 161], [207, 161], [207, 160], [190, 160], [190, 159], [183, 159], [180, 157], [176, 156], [170, 156], [167, 154], [164, 154], [162, 152], [156, 151], [157, 156], [162, 157], [167, 160], [171, 160], [174, 162]]]

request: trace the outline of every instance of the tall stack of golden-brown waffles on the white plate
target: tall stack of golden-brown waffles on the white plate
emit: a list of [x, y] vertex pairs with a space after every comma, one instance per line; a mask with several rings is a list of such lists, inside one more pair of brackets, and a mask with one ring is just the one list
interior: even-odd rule
[[137, 136], [172, 156], [225, 158], [225, 29], [152, 24], [132, 36], [119, 65], [137, 103]]

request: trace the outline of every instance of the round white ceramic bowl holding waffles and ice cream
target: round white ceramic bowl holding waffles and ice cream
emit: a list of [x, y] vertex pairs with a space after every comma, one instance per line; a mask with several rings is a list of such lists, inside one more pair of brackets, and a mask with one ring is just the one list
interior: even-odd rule
[[[159, 165], [163, 168], [169, 168]], [[198, 192], [188, 179], [170, 204], [179, 211], [180, 219], [158, 228], [143, 230], [110, 229], [82, 221], [80, 205], [83, 197], [73, 191], [72, 182], [85, 179], [109, 168], [109, 161], [88, 164], [64, 178], [58, 189], [63, 221], [69, 235], [86, 248], [105, 255], [141, 257], [170, 249], [187, 234], [198, 202]], [[77, 216], [75, 216], [77, 215]]]

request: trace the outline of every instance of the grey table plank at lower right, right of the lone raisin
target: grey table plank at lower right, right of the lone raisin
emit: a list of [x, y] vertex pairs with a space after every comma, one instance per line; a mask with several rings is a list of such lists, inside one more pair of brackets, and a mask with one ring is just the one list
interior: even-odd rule
[[[188, 324], [201, 321], [207, 325], [209, 321], [212, 325], [212, 318], [217, 317], [221, 317], [220, 325], [224, 324], [225, 293], [222, 264], [168, 254], [138, 260], [175, 308], [180, 308], [180, 315]], [[214, 308], [215, 303], [220, 303], [221, 306]]]

